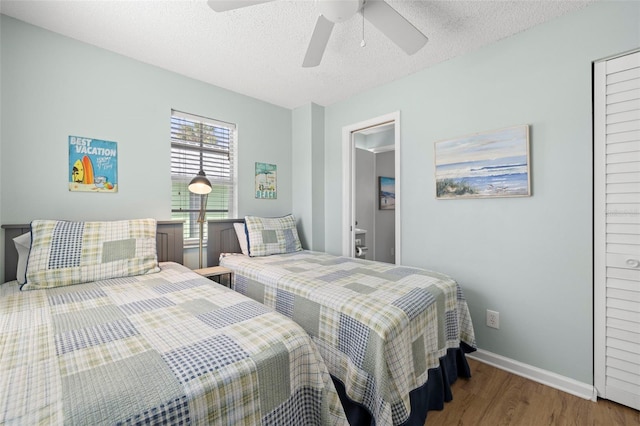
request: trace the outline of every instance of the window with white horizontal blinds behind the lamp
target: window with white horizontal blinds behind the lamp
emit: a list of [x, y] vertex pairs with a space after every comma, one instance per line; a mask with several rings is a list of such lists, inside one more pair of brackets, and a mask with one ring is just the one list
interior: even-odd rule
[[235, 145], [235, 124], [171, 110], [171, 218], [184, 221], [187, 244], [198, 238], [200, 212], [200, 196], [187, 186], [201, 168], [212, 187], [206, 218], [235, 217]]

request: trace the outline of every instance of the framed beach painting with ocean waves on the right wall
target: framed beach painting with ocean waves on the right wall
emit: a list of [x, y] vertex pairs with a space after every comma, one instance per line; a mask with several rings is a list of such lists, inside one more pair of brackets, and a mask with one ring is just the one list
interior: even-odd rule
[[529, 126], [435, 143], [436, 198], [531, 195]]

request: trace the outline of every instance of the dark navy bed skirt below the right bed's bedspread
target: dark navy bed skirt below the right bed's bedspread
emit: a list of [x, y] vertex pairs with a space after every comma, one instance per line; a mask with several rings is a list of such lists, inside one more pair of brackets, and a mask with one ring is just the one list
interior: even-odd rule
[[[459, 348], [449, 349], [447, 354], [440, 358], [440, 367], [429, 370], [427, 383], [409, 393], [411, 414], [403, 426], [423, 426], [429, 410], [442, 410], [444, 403], [453, 399], [451, 385], [458, 377], [471, 377], [465, 353], [474, 351], [474, 348], [462, 342]], [[369, 410], [349, 399], [342, 382], [331, 377], [351, 426], [375, 426], [375, 419]]]

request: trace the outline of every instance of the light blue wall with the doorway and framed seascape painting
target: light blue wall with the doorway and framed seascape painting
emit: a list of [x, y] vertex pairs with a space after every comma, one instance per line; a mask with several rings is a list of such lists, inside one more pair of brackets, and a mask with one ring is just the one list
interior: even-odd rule
[[[399, 110], [403, 263], [460, 282], [482, 349], [592, 383], [591, 62], [639, 46], [640, 2], [603, 2], [327, 107], [326, 250], [342, 127]], [[434, 142], [519, 124], [532, 197], [435, 199]]]

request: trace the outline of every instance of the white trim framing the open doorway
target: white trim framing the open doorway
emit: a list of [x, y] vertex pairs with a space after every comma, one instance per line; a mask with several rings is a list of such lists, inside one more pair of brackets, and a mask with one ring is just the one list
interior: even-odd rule
[[377, 127], [383, 124], [394, 124], [395, 147], [395, 179], [396, 179], [396, 210], [395, 210], [395, 260], [396, 264], [402, 263], [402, 229], [400, 226], [402, 206], [402, 179], [400, 169], [400, 111], [391, 112], [359, 123], [342, 127], [342, 255], [354, 257], [355, 245], [355, 141], [353, 133]]

